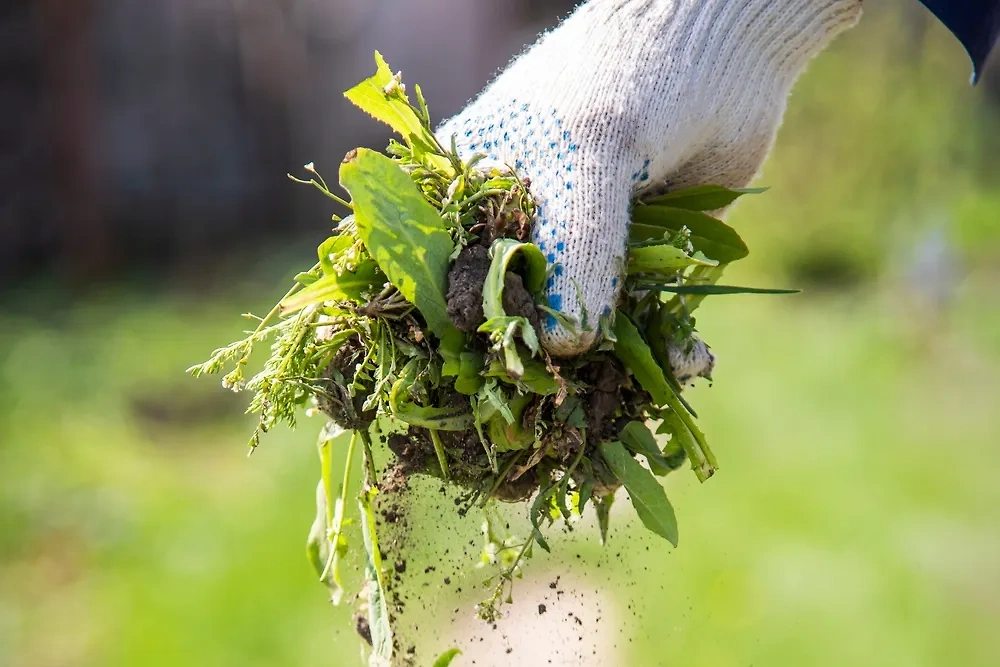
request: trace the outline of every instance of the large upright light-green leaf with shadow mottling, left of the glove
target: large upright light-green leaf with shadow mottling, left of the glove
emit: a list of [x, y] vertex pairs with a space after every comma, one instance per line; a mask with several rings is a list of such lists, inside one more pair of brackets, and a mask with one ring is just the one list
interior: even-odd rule
[[358, 149], [340, 167], [358, 233], [379, 267], [443, 338], [452, 328], [445, 293], [454, 243], [437, 211], [390, 158]]

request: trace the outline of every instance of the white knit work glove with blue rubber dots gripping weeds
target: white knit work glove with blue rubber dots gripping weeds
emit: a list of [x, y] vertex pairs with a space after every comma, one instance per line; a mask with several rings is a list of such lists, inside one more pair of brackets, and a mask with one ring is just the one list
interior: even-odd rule
[[860, 14], [861, 0], [589, 0], [439, 129], [531, 179], [549, 305], [586, 325], [549, 318], [547, 350], [585, 352], [614, 308], [632, 198], [747, 185], [799, 73]]

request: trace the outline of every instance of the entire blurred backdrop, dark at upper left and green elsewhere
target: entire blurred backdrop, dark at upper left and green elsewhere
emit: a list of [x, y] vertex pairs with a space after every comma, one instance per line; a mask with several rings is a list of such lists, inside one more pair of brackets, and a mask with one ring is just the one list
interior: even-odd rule
[[[572, 4], [4, 0], [0, 665], [360, 664], [304, 556], [319, 424], [248, 460], [183, 371], [326, 237], [285, 173], [385, 145], [341, 97], [375, 49], [441, 119]], [[668, 481], [681, 548], [560, 564], [625, 610], [614, 664], [1000, 664], [1000, 63], [866, 4], [730, 217], [731, 280], [805, 293], [699, 313], [723, 469]]]

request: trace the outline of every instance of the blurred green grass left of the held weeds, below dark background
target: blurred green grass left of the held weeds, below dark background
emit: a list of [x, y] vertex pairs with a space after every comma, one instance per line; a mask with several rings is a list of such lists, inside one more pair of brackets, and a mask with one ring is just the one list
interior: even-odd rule
[[183, 374], [237, 332], [233, 306], [5, 318], [0, 664], [329, 661], [345, 617], [303, 567], [313, 436], [248, 460], [241, 403]]

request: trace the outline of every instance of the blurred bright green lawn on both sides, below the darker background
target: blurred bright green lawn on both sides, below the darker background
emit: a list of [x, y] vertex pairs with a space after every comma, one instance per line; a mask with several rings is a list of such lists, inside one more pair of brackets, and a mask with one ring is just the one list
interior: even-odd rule
[[[669, 481], [676, 552], [615, 531], [613, 547], [643, 547], [599, 575], [637, 612], [624, 664], [1000, 661], [1000, 322], [977, 315], [998, 305], [990, 278], [929, 334], [891, 293], [705, 310], [722, 365], [693, 400], [724, 467]], [[58, 328], [5, 321], [9, 664], [358, 664], [304, 558], [313, 429], [248, 460], [239, 405], [179, 375], [232, 333], [231, 308], [92, 302]], [[177, 395], [218, 413], [136, 407]]]

